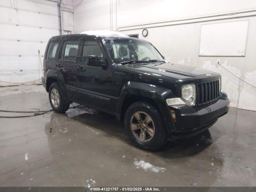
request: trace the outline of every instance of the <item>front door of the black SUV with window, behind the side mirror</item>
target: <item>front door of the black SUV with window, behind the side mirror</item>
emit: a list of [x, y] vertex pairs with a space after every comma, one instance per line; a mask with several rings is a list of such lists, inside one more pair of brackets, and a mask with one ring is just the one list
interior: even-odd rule
[[114, 108], [114, 84], [112, 68], [90, 66], [89, 56], [98, 56], [106, 61], [104, 49], [95, 39], [82, 39], [78, 63], [78, 100], [88, 106], [106, 111]]

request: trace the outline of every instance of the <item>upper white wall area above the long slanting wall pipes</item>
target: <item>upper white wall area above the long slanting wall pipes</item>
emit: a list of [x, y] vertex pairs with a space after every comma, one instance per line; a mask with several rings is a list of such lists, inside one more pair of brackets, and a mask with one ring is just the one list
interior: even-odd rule
[[[73, 0], [79, 4], [80, 0]], [[113, 26], [115, 5], [113, 0]], [[195, 16], [248, 10], [256, 7], [255, 0], [117, 0], [117, 25], [128, 26]], [[110, 1], [83, 0], [74, 12], [75, 32], [110, 28]]]

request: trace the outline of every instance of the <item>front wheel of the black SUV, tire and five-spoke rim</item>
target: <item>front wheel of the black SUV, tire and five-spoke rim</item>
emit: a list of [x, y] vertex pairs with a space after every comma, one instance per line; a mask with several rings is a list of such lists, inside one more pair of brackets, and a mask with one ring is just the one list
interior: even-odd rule
[[166, 143], [166, 130], [158, 110], [147, 102], [135, 102], [126, 111], [124, 126], [132, 142], [154, 151]]

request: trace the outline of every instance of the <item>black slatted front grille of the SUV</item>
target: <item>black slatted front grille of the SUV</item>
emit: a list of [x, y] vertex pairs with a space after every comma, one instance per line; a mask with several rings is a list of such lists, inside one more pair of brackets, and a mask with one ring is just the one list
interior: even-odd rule
[[197, 84], [197, 105], [204, 105], [220, 98], [220, 79]]

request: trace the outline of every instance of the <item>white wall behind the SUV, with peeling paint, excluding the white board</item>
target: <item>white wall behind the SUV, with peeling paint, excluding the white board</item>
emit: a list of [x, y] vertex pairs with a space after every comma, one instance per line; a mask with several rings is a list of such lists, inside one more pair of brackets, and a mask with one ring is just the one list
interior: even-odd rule
[[[217, 64], [256, 86], [256, 1], [74, 0], [74, 4], [78, 4], [74, 12], [75, 33], [104, 29], [139, 34], [171, 63], [219, 72], [222, 90], [228, 93], [231, 106], [256, 110], [256, 89]], [[202, 24], [240, 20], [249, 20], [245, 56], [199, 56]], [[149, 24], [152, 22], [162, 23]], [[148, 29], [145, 38], [143, 28]]]

